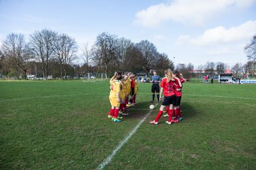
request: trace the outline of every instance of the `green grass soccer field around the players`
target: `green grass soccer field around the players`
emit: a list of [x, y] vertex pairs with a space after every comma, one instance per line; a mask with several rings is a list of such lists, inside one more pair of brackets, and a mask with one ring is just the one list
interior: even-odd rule
[[0, 169], [256, 169], [255, 85], [187, 82], [172, 125], [150, 91], [113, 123], [108, 81], [0, 81]]

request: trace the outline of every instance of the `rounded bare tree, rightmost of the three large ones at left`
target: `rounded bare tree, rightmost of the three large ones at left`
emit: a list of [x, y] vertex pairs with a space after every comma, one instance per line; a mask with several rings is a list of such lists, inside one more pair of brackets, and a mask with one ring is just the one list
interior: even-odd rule
[[77, 42], [66, 34], [57, 35], [53, 41], [53, 51], [55, 58], [60, 64], [61, 79], [68, 77], [68, 66], [73, 64], [77, 58], [75, 53], [78, 51]]

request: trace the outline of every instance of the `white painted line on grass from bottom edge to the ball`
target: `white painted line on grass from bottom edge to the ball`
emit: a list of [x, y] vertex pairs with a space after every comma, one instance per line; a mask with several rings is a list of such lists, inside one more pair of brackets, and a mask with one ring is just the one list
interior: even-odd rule
[[[155, 107], [158, 105], [158, 103], [156, 103]], [[148, 110], [148, 109], [147, 109]], [[152, 113], [152, 111], [154, 111], [153, 109], [149, 111], [149, 113], [147, 113], [145, 115], [145, 117], [138, 123], [138, 125], [131, 131], [129, 132], [129, 135], [127, 135], [127, 137], [124, 138], [124, 140], [122, 140], [122, 142], [119, 143], [119, 145], [117, 147], [114, 148], [114, 150], [112, 151], [112, 153], [99, 165], [97, 166], [97, 169], [101, 170], [104, 169], [104, 167], [109, 164], [111, 162], [111, 160], [113, 159], [114, 155], [117, 154], [117, 152], [119, 151], [119, 149], [122, 148], [122, 146], [128, 142], [129, 138], [132, 137], [132, 135], [134, 135], [134, 133], [138, 130], [138, 128], [142, 125], [142, 123], [144, 122], [144, 120], [146, 120], [146, 118], [150, 115], [150, 113]]]

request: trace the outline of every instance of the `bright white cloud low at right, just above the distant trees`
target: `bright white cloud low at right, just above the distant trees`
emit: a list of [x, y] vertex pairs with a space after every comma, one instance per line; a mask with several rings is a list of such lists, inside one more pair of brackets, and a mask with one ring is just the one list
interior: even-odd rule
[[250, 40], [252, 35], [256, 34], [256, 21], [247, 21], [238, 27], [224, 28], [218, 26], [216, 28], [206, 30], [203, 35], [192, 38], [190, 35], [180, 35], [176, 41], [176, 45], [219, 45], [230, 42], [243, 42]]

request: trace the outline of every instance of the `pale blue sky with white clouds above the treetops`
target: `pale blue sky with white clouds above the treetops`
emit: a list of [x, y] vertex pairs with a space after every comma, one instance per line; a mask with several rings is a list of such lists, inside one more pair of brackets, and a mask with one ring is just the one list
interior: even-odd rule
[[11, 33], [28, 40], [44, 28], [75, 38], [80, 49], [109, 33], [135, 43], [149, 40], [175, 65], [232, 67], [247, 62], [256, 0], [0, 0], [0, 45]]

